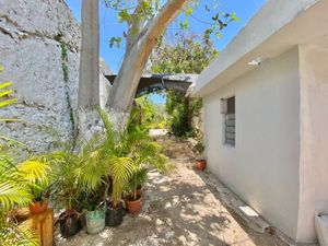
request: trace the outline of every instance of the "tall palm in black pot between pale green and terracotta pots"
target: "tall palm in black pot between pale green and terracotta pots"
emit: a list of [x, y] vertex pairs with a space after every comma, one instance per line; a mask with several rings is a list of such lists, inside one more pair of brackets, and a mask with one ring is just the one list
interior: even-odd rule
[[124, 216], [121, 206], [124, 187], [131, 180], [136, 168], [152, 165], [166, 171], [166, 159], [161, 154], [160, 145], [151, 141], [147, 129], [140, 129], [130, 119], [126, 128], [115, 130], [107, 114], [102, 109], [98, 112], [105, 127], [103, 156], [108, 163], [112, 180], [106, 224], [117, 226]]

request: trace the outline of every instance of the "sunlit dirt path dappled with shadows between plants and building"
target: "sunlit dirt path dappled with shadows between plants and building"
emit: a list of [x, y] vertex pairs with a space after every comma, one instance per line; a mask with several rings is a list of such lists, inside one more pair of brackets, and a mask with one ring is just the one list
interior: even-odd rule
[[63, 239], [56, 233], [56, 245], [286, 245], [276, 235], [253, 231], [221, 203], [216, 190], [208, 187], [194, 169], [195, 159], [186, 141], [168, 137], [157, 141], [176, 168], [168, 176], [150, 172], [142, 213], [126, 215], [119, 227], [106, 227], [99, 235], [81, 232]]

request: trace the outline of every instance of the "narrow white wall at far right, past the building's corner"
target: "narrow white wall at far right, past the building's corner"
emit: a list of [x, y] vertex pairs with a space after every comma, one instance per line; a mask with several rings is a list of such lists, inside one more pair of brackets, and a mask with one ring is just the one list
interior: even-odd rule
[[315, 210], [328, 211], [328, 49], [300, 47], [301, 162], [297, 239], [314, 239]]

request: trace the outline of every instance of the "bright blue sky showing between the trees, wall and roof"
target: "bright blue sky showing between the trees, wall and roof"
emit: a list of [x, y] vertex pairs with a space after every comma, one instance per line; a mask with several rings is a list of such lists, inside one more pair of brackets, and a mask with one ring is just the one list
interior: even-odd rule
[[[66, 0], [74, 16], [81, 20], [81, 0]], [[116, 13], [105, 8], [103, 0], [99, 0], [99, 23], [101, 23], [101, 56], [105, 59], [113, 72], [117, 72], [122, 61], [124, 48], [109, 48], [109, 38], [121, 36], [125, 26], [118, 23]], [[201, 4], [208, 4], [213, 8], [213, 0], [200, 0]], [[214, 46], [222, 50], [231, 39], [247, 24], [249, 19], [262, 7], [266, 0], [221, 0], [216, 12], [236, 12], [239, 17], [238, 22], [231, 23], [223, 32], [221, 38], [213, 39]], [[203, 8], [195, 10], [192, 15], [200, 20], [210, 20], [212, 15], [204, 11]], [[201, 33], [207, 25], [195, 20], [189, 20], [189, 25], [195, 33]], [[124, 46], [122, 46], [124, 47]], [[163, 96], [154, 95], [152, 99], [155, 103], [163, 103]]]

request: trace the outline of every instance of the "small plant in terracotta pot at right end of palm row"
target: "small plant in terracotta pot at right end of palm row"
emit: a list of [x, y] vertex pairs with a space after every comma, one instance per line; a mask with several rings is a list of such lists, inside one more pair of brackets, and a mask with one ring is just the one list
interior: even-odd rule
[[[148, 169], [136, 168], [130, 181], [127, 185], [128, 196], [126, 197], [126, 209], [128, 213], [139, 214], [141, 210], [141, 187], [147, 181]], [[138, 192], [139, 191], [139, 192]]]

